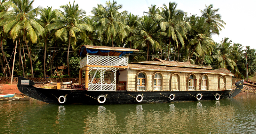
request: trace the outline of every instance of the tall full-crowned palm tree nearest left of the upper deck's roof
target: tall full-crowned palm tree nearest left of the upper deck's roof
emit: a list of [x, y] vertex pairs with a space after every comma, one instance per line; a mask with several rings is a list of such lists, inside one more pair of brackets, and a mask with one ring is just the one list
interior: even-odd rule
[[68, 38], [68, 55], [67, 55], [67, 65], [68, 65], [68, 76], [70, 77], [70, 72], [69, 72], [69, 48], [71, 45], [71, 40], [72, 40], [72, 45], [76, 45], [76, 39], [78, 34], [82, 38], [86, 38], [85, 30], [87, 31], [92, 31], [93, 28], [92, 26], [88, 25], [85, 23], [85, 15], [86, 12], [82, 9], [79, 9], [78, 4], [75, 4], [75, 1], [73, 5], [66, 4], [60, 6], [64, 11], [58, 11], [56, 12], [57, 17], [59, 19], [53, 19], [53, 23], [47, 24], [46, 29], [48, 31], [51, 31], [52, 29], [57, 30], [55, 32], [55, 36], [61, 38], [62, 36], [66, 36]]

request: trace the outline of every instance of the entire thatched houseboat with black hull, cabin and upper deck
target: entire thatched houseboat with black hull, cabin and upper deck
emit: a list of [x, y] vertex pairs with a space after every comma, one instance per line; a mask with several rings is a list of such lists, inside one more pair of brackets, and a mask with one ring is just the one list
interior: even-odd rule
[[39, 88], [33, 81], [18, 77], [18, 88], [29, 97], [60, 104], [219, 100], [232, 98], [243, 88], [243, 81], [232, 86], [234, 74], [227, 69], [212, 70], [210, 66], [158, 58], [128, 64], [128, 54], [138, 51], [83, 45], [79, 51], [78, 84], [59, 89]]

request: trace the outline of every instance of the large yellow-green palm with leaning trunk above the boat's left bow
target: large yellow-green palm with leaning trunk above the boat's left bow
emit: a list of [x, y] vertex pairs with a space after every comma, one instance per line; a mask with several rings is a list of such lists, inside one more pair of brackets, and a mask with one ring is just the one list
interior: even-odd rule
[[12, 7], [12, 10], [7, 11], [4, 22], [4, 32], [11, 35], [12, 40], [15, 40], [20, 31], [23, 32], [23, 38], [28, 49], [28, 56], [31, 67], [31, 77], [34, 78], [32, 57], [28, 48], [28, 39], [32, 43], [36, 43], [39, 32], [42, 34], [43, 27], [36, 21], [36, 16], [40, 7], [33, 9], [33, 0], [11, 0], [4, 5]]

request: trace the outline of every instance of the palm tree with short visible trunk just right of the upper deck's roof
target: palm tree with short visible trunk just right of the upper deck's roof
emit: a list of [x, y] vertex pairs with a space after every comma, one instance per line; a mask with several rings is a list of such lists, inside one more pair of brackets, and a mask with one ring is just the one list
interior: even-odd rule
[[140, 23], [138, 26], [140, 33], [138, 35], [133, 35], [129, 40], [134, 41], [133, 48], [137, 47], [147, 47], [147, 58], [148, 61], [149, 56], [149, 47], [152, 45], [154, 48], [159, 47], [159, 43], [157, 42], [157, 38], [160, 35], [166, 35], [164, 32], [157, 32], [157, 23], [148, 16], [143, 16], [140, 18]]

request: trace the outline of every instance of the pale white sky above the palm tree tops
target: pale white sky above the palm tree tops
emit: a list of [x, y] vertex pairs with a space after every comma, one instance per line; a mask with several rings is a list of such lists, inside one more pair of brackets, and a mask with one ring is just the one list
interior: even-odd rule
[[[113, 0], [110, 0], [113, 2]], [[163, 7], [163, 4], [168, 5], [168, 0], [116, 0], [117, 4], [122, 4], [123, 8], [120, 11], [128, 11], [134, 15], [143, 16], [143, 11], [148, 12], [148, 7], [151, 4], [155, 4], [157, 7]], [[256, 31], [253, 23], [254, 17], [254, 5], [256, 1], [253, 0], [175, 0], [177, 9], [181, 9], [191, 14], [197, 14], [201, 16], [200, 10], [204, 10], [205, 5], [213, 4], [213, 8], [219, 8], [219, 14], [222, 16], [222, 20], [226, 22], [225, 28], [222, 28], [220, 35], [213, 36], [213, 40], [219, 43], [222, 39], [228, 37], [235, 43], [242, 44], [244, 46], [250, 46], [256, 49], [256, 45], [252, 39], [256, 38], [254, 32]], [[66, 5], [69, 0], [34, 0], [33, 7], [52, 6], [52, 9], [60, 9], [60, 5]], [[70, 1], [73, 4], [73, 0]], [[97, 4], [105, 5], [106, 0], [76, 0], [75, 4], [79, 5], [79, 8], [86, 11], [86, 15], [91, 15], [90, 11], [93, 7], [97, 7]], [[248, 23], [247, 23], [248, 22]]]

